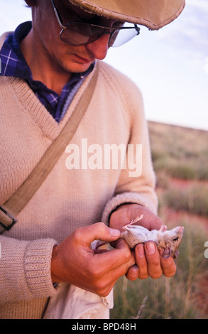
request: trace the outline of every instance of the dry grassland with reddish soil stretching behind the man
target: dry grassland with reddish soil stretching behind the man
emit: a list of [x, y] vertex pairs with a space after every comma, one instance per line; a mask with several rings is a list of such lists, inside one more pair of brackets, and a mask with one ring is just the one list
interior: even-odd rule
[[[208, 217], [208, 131], [155, 122], [149, 122], [149, 129], [159, 215], [165, 221], [166, 208], [182, 211], [174, 224], [185, 226], [185, 235], [173, 277], [133, 282], [122, 277], [117, 281], [111, 318], [208, 318], [208, 259], [204, 257], [208, 229], [197, 216]], [[173, 178], [188, 183], [181, 188]]]

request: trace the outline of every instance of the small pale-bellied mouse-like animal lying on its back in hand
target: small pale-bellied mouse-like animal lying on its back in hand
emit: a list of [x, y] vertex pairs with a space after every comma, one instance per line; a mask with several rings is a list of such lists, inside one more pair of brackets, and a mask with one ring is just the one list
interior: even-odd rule
[[163, 250], [163, 259], [168, 259], [170, 256], [176, 259], [179, 254], [178, 247], [182, 240], [184, 227], [178, 226], [173, 228], [173, 230], [167, 230], [167, 227], [162, 225], [160, 230], [149, 231], [145, 227], [134, 225], [141, 220], [142, 217], [143, 215], [124, 225], [123, 229], [125, 232], [121, 233], [121, 238], [123, 238], [131, 248], [134, 248], [136, 244], [139, 243], [153, 241], [158, 245], [158, 249]]

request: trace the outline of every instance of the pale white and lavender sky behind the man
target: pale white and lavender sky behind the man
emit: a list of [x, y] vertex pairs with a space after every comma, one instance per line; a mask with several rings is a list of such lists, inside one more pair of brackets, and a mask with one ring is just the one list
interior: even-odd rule
[[[23, 0], [0, 0], [0, 34], [31, 20]], [[146, 118], [208, 130], [208, 0], [187, 0], [159, 31], [141, 34], [104, 60], [136, 82]]]

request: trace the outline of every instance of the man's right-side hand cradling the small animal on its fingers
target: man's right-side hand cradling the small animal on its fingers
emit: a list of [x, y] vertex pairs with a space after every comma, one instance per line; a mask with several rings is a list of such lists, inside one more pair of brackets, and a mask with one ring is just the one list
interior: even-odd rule
[[[159, 230], [163, 225], [163, 220], [156, 216], [152, 211], [137, 204], [121, 205], [110, 218], [110, 227], [122, 230], [122, 227], [143, 215], [138, 225], [146, 227], [148, 230]], [[162, 274], [164, 276], [173, 276], [176, 271], [175, 262], [172, 257], [163, 259], [160, 257], [158, 247], [155, 242], [146, 242], [146, 244], [137, 244], [135, 247], [136, 265], [128, 269], [126, 277], [131, 281], [135, 279], [146, 279], [148, 276], [158, 279]]]

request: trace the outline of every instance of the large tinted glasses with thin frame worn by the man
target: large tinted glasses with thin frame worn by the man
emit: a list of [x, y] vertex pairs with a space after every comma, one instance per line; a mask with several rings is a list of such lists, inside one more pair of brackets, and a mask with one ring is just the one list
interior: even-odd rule
[[60, 28], [61, 41], [71, 45], [86, 45], [97, 41], [104, 33], [109, 33], [109, 47], [117, 47], [130, 41], [140, 33], [140, 28], [136, 24], [124, 23], [121, 27], [104, 27], [96, 24], [85, 22], [69, 22], [66, 26], [62, 24], [62, 18], [55, 7], [54, 1], [51, 0], [55, 16]]

